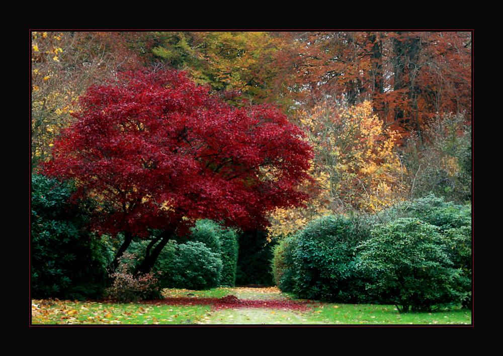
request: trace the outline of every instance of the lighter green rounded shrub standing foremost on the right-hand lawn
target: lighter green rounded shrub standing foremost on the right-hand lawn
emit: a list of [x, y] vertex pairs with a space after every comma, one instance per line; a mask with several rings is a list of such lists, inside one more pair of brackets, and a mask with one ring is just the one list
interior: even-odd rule
[[455, 268], [438, 226], [399, 218], [376, 228], [359, 249], [361, 268], [377, 275], [369, 287], [389, 294], [400, 312], [459, 302], [454, 286], [461, 270]]

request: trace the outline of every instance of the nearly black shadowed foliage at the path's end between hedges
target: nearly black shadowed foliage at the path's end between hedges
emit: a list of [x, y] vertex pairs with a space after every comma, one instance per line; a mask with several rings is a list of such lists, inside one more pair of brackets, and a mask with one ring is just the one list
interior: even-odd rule
[[271, 273], [274, 245], [267, 241], [263, 230], [242, 232], [239, 235], [239, 256], [236, 285], [274, 286]]

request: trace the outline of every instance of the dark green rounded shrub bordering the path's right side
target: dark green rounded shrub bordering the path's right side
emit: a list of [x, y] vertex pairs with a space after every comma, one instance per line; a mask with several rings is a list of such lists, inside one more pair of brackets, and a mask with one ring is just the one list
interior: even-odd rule
[[[370, 275], [358, 269], [356, 247], [366, 229], [361, 217], [323, 216], [294, 238], [294, 293], [300, 298], [332, 302], [370, 302]], [[290, 272], [291, 273], [291, 272]]]

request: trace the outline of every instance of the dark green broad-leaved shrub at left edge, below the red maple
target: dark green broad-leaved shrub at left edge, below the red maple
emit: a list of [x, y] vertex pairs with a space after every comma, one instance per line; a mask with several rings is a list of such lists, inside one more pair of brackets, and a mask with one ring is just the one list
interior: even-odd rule
[[84, 229], [87, 207], [70, 203], [71, 192], [69, 184], [32, 176], [32, 298], [96, 298], [105, 287], [98, 242]]

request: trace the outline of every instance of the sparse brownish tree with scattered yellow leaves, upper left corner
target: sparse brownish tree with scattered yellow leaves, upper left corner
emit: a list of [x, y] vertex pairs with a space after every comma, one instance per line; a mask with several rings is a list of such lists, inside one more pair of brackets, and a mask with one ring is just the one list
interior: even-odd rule
[[30, 38], [33, 169], [50, 157], [52, 140], [73, 121], [83, 90], [139, 62], [113, 32], [32, 31]]

